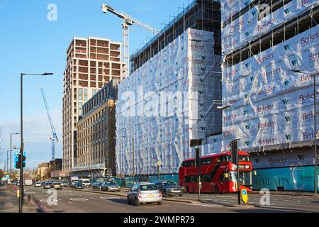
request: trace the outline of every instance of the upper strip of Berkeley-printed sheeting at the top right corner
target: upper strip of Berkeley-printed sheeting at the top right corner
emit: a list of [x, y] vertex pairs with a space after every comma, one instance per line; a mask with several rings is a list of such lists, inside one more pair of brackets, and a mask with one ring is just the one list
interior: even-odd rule
[[[232, 11], [237, 12], [240, 9], [245, 8], [247, 1], [240, 1], [239, 3], [240, 4], [237, 4], [237, 1], [233, 0], [221, 1], [222, 6], [231, 6], [225, 7], [225, 9], [227, 9], [225, 11], [222, 9], [222, 18], [224, 16], [224, 19], [226, 20], [227, 16], [225, 15], [228, 15], [228, 13], [231, 13]], [[246, 45], [251, 40], [254, 40], [254, 38], [272, 31], [272, 29], [280, 26], [282, 23], [301, 15], [301, 13], [318, 4], [319, 0], [293, 0], [273, 13], [264, 14], [264, 17], [261, 16], [260, 20], [259, 6], [250, 8], [247, 13], [244, 13], [242, 16], [231, 21], [231, 23], [222, 29], [221, 39], [223, 55], [228, 55], [230, 52], [233, 52], [243, 45]], [[264, 9], [264, 7], [262, 7], [262, 9]], [[223, 19], [222, 21], [224, 22]]]

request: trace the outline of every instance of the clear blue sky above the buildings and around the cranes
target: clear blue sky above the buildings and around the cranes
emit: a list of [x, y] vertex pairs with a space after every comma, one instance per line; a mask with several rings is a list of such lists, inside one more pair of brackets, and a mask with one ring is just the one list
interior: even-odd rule
[[[0, 1], [0, 127], [4, 146], [0, 169], [4, 168], [10, 133], [20, 131], [20, 73], [53, 72], [51, 77], [23, 78], [23, 138], [30, 168], [51, 159], [52, 131], [40, 87], [45, 89], [57, 137], [55, 157], [62, 158], [62, 95], [66, 51], [74, 36], [110, 38], [121, 42], [121, 19], [101, 11], [102, 3], [147, 23], [158, 30], [177, 16], [191, 0], [1, 0]], [[50, 4], [57, 7], [57, 20]], [[130, 28], [130, 53], [152, 37], [138, 26]], [[20, 147], [13, 135], [12, 145]], [[18, 152], [18, 150], [16, 150]], [[13, 163], [12, 163], [13, 165]]]

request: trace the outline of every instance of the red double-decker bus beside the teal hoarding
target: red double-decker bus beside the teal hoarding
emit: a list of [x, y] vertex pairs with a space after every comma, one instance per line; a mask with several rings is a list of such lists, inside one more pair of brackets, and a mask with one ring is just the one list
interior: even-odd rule
[[[252, 191], [252, 162], [248, 153], [239, 151], [240, 189]], [[198, 167], [195, 158], [184, 160], [179, 167], [179, 184], [186, 192], [198, 192]], [[237, 192], [237, 167], [231, 153], [201, 157], [201, 192], [214, 194]]]

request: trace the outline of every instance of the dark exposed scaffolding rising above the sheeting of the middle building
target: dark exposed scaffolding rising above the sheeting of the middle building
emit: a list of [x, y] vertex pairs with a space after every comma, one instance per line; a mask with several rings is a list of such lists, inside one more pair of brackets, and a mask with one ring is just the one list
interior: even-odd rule
[[130, 56], [131, 73], [147, 60], [157, 55], [169, 43], [172, 43], [188, 28], [214, 33], [216, 55], [221, 55], [220, 43], [220, 2], [213, 0], [196, 0], [169, 22], [162, 31], [155, 35], [143, 48]]

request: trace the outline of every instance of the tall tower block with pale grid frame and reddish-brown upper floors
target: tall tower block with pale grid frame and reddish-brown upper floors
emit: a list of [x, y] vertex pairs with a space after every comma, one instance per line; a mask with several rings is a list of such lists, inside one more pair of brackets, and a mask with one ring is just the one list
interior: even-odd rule
[[67, 49], [63, 79], [63, 171], [77, 157], [77, 121], [83, 104], [111, 79], [124, 79], [121, 43], [106, 38], [73, 38]]

